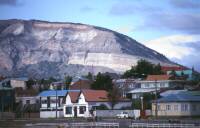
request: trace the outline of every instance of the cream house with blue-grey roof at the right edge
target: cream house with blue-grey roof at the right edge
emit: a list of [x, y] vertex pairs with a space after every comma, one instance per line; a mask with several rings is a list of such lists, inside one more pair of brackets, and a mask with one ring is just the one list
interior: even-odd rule
[[158, 116], [200, 116], [200, 92], [180, 91], [153, 101], [152, 114], [156, 113]]

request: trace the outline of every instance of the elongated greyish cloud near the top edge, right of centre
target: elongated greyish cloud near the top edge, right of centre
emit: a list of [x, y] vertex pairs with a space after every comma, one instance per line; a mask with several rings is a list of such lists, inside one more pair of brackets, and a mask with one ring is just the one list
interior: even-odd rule
[[158, 10], [160, 10], [160, 8], [150, 7], [143, 3], [140, 3], [140, 4], [117, 3], [111, 7], [109, 14], [117, 15], [117, 16], [125, 16], [125, 15], [136, 14], [138, 12], [139, 13], [152, 13], [152, 12], [155, 12]]

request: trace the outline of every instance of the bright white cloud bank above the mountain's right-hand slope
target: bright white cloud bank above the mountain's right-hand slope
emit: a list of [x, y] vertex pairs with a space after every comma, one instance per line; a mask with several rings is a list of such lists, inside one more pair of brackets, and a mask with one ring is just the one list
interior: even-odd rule
[[200, 47], [200, 35], [172, 35], [150, 40], [144, 44], [170, 59], [182, 60], [193, 54], [200, 55], [198, 49], [193, 47], [194, 44]]

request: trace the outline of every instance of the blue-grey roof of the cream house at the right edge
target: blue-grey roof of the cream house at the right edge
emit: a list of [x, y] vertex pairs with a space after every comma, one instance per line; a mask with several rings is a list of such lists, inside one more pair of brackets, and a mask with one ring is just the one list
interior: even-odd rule
[[157, 102], [200, 102], [200, 91], [187, 91], [160, 98]]

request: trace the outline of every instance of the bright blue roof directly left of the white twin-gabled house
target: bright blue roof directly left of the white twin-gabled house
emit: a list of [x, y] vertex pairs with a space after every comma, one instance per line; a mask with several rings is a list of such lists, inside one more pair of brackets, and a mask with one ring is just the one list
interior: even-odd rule
[[[79, 92], [80, 90], [57, 90], [57, 96], [65, 96], [67, 92]], [[47, 90], [42, 91], [38, 96], [47, 97], [47, 96], [56, 96], [56, 90]]]

